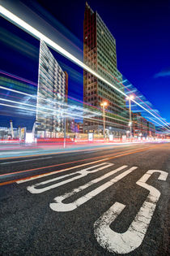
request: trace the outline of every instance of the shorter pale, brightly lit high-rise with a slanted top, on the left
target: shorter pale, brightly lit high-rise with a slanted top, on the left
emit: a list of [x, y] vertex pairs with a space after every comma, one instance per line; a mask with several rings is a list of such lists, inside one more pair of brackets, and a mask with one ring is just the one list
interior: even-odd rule
[[40, 41], [36, 133], [38, 137], [57, 137], [64, 132], [62, 106], [67, 101], [68, 75], [62, 71], [44, 41]]

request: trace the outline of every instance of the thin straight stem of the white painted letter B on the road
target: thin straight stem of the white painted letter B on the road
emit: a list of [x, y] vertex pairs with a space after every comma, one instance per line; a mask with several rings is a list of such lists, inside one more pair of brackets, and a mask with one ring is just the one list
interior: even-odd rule
[[23, 182], [28, 182], [30, 180], [37, 180], [37, 179], [40, 179], [40, 178], [43, 178], [43, 177], [46, 177], [46, 176], [51, 176], [51, 175], [56, 174], [56, 173], [61, 173], [63, 171], [69, 171], [69, 170], [79, 168], [79, 167], [85, 167], [85, 166], [91, 165], [93, 163], [99, 163], [101, 161], [107, 161], [107, 160], [108, 160], [108, 158], [104, 158], [104, 159], [97, 160], [97, 161], [94, 161], [94, 162], [91, 162], [91, 163], [83, 163], [83, 164], [80, 164], [80, 165], [77, 165], [77, 166], [74, 166], [74, 167], [69, 167], [69, 168], [63, 169], [62, 171], [60, 171], [60, 170], [59, 171], [58, 170], [57, 171], [51, 171], [49, 173], [45, 173], [44, 175], [40, 174], [40, 176], [31, 177], [31, 178], [27, 178], [27, 179], [23, 179], [23, 180], [18, 180], [18, 181], [16, 181], [16, 183], [20, 184], [20, 183], [23, 183]]

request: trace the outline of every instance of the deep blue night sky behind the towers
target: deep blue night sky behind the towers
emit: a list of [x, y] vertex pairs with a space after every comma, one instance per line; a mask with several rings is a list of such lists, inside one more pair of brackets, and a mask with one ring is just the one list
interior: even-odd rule
[[[31, 1], [25, 2], [32, 6]], [[66, 36], [70, 31], [70, 39], [81, 52], [85, 1], [36, 2], [68, 29]], [[90, 0], [88, 4], [93, 11], [98, 11], [116, 38], [119, 71], [170, 123], [170, 1]], [[3, 18], [0, 22], [0, 69], [37, 82], [39, 41]], [[53, 54], [62, 68], [68, 69], [67, 72], [68, 67], [72, 68], [70, 96], [82, 99], [83, 72], [58, 54]], [[0, 118], [0, 126], [8, 122], [4, 115]]]

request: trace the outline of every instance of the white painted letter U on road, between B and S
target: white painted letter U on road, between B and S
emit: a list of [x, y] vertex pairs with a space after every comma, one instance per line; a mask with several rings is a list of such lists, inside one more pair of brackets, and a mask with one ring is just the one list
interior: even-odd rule
[[65, 193], [64, 195], [62, 195], [60, 197], [55, 197], [54, 202], [49, 204], [50, 208], [55, 211], [70, 211], [70, 210], [76, 209], [78, 206], [81, 206], [84, 202], [87, 202], [92, 197], [95, 197], [98, 193], [101, 193], [102, 191], [104, 191], [104, 189], [108, 189], [108, 187], [110, 187], [111, 185], [116, 183], [118, 180], [121, 180], [123, 177], [125, 177], [131, 171], [134, 171], [138, 167], [131, 167], [129, 170], [124, 171], [122, 174], [116, 176], [112, 180], [109, 180], [105, 184], [100, 185], [100, 187], [92, 190], [90, 193], [87, 193], [85, 196], [79, 197], [79, 199], [75, 200], [74, 202], [66, 204], [66, 203], [63, 203], [62, 201], [65, 200], [66, 198], [74, 195], [74, 193], [79, 193], [83, 189], [87, 189], [88, 187], [90, 187], [92, 184], [96, 184], [100, 180], [104, 180], [105, 178], [112, 176], [113, 174], [117, 173], [117, 171], [121, 171], [121, 170], [125, 169], [126, 167], [127, 166], [124, 165], [122, 167], [117, 168], [116, 170], [109, 171], [104, 176], [100, 176], [99, 178], [97, 178], [95, 180], [91, 180], [87, 184], [79, 186], [79, 188], [77, 188], [77, 189], [73, 189], [70, 193]]

